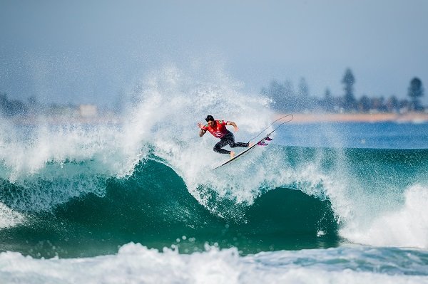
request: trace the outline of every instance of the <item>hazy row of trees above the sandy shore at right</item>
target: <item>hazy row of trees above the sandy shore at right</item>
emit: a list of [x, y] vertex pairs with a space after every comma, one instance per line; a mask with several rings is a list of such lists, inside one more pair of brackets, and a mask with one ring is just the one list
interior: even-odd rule
[[422, 81], [417, 77], [412, 78], [409, 82], [408, 99], [401, 100], [395, 95], [389, 98], [369, 98], [367, 95], [362, 95], [360, 99], [355, 98], [355, 76], [350, 68], [345, 70], [341, 83], [344, 90], [341, 96], [333, 96], [328, 88], [322, 98], [311, 96], [305, 78], [300, 79], [297, 90], [294, 89], [290, 80], [283, 83], [272, 80], [270, 85], [263, 87], [260, 93], [271, 98], [272, 107], [280, 112], [409, 112], [425, 110], [420, 102], [420, 98], [424, 95], [424, 88]]

